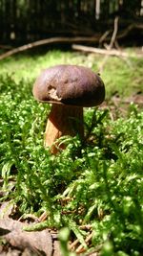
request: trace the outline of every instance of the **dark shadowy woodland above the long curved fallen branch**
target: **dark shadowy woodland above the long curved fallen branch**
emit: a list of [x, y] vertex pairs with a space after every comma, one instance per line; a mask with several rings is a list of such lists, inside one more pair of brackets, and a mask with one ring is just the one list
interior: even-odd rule
[[0, 0], [1, 48], [54, 36], [99, 44], [111, 39], [116, 16], [119, 43], [142, 45], [143, 0]]

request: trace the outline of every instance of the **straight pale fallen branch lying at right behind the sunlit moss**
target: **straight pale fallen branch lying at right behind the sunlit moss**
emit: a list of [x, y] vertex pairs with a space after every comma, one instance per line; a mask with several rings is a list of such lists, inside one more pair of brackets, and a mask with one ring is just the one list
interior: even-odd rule
[[99, 54], [99, 55], [107, 55], [107, 56], [116, 56], [116, 57], [123, 57], [123, 58], [130, 58], [130, 57], [137, 57], [137, 58], [142, 58], [143, 54], [131, 54], [131, 53], [126, 53], [123, 51], [111, 49], [111, 50], [106, 50], [106, 49], [99, 49], [91, 46], [84, 46], [84, 45], [77, 45], [77, 44], [72, 44], [72, 49], [77, 50], [77, 51], [82, 51], [82, 52], [88, 52], [88, 53], [94, 53], [94, 54]]

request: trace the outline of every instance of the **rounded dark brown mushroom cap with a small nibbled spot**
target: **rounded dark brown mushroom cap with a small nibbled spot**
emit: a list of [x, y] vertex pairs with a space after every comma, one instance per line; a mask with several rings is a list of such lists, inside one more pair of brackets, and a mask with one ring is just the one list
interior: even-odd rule
[[45, 103], [93, 106], [105, 98], [101, 78], [91, 69], [76, 65], [57, 65], [42, 71], [33, 85], [33, 96]]

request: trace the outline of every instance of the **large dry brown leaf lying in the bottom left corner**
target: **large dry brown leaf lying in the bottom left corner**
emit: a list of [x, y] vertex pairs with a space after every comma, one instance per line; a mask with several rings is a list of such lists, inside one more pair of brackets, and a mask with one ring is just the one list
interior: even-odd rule
[[[59, 256], [59, 244], [54, 248], [54, 242], [49, 229], [42, 231], [25, 231], [25, 223], [13, 221], [10, 218], [0, 220], [0, 237], [4, 238], [13, 247], [25, 250], [31, 249], [36, 255]], [[56, 252], [56, 254], [54, 253]], [[31, 254], [32, 255], [32, 254]]]

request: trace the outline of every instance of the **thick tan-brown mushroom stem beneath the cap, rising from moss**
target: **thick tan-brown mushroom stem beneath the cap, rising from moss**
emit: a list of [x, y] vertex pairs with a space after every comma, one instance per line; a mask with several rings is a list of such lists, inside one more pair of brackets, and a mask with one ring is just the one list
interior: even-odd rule
[[[58, 143], [53, 143], [64, 135], [75, 136], [79, 134], [84, 137], [83, 107], [71, 105], [51, 105], [51, 113], [47, 122], [45, 132], [45, 147], [51, 147], [51, 152], [56, 153]], [[60, 149], [65, 146], [60, 144]]]

